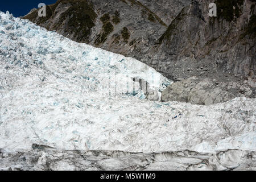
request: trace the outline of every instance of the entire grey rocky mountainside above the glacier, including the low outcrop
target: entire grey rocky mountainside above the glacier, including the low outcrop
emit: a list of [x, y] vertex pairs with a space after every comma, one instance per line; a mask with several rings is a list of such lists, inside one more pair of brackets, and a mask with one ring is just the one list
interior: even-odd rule
[[[212, 2], [217, 17], [208, 15]], [[163, 101], [209, 104], [236, 96], [255, 97], [255, 92], [234, 94], [214, 83], [210, 91], [193, 88], [204, 79], [224, 85], [248, 80], [249, 89], [255, 90], [254, 0], [59, 0], [47, 6], [47, 17], [37, 14], [38, 10], [32, 11], [24, 19], [76, 42], [134, 57], [171, 80], [199, 78], [191, 85], [192, 95], [187, 96], [188, 88], [166, 90]], [[212, 99], [205, 101], [209, 92]], [[195, 98], [196, 94], [203, 96]], [[156, 98], [154, 93], [150, 97]]]

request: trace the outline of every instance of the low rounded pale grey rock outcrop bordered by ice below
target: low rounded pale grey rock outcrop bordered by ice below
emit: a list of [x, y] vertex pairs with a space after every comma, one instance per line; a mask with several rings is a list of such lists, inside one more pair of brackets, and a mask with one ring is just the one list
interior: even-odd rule
[[161, 100], [190, 102], [191, 104], [210, 105], [232, 100], [235, 97], [255, 97], [255, 93], [247, 84], [238, 82], [218, 82], [205, 78], [199, 81], [190, 77], [175, 82], [162, 92]]

